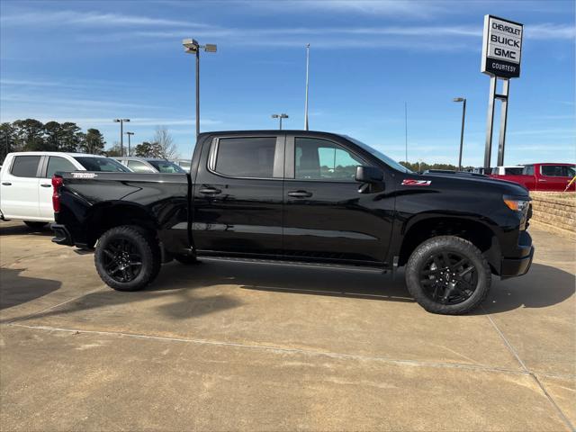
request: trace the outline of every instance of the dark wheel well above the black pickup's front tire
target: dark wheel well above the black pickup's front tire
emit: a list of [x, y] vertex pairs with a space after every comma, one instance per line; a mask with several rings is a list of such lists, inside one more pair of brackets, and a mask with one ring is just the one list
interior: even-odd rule
[[488, 259], [493, 272], [500, 269], [500, 247], [492, 230], [481, 222], [458, 218], [431, 218], [412, 225], [402, 241], [399, 266], [408, 262], [420, 243], [437, 236], [455, 236], [470, 241]]

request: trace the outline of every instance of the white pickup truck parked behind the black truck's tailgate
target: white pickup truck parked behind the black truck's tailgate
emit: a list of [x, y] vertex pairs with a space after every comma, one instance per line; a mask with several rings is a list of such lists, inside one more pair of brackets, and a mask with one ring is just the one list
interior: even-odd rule
[[23, 220], [32, 229], [54, 221], [51, 178], [55, 172], [130, 172], [110, 157], [84, 153], [8, 153], [0, 170], [0, 219]]

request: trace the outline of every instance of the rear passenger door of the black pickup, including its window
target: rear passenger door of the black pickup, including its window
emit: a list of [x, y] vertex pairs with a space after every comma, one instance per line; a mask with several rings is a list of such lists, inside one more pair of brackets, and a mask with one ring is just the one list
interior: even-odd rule
[[283, 171], [284, 136], [204, 144], [193, 190], [194, 247], [282, 254]]

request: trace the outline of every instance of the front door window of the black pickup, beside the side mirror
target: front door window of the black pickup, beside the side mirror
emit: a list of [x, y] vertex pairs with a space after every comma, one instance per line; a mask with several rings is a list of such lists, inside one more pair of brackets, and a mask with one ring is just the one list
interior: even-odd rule
[[326, 139], [296, 138], [294, 153], [295, 178], [301, 180], [353, 182], [356, 166], [365, 164]]

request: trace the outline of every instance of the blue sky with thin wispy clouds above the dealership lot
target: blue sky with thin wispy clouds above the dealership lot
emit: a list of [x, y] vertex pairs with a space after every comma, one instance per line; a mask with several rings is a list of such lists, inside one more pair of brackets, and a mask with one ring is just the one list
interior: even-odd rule
[[[157, 125], [182, 157], [194, 141], [193, 56], [202, 53], [202, 130], [302, 129], [311, 44], [311, 130], [347, 133], [404, 159], [483, 161], [489, 77], [484, 14], [525, 24], [522, 76], [510, 84], [506, 164], [574, 162], [574, 2], [566, 1], [10, 1], [0, 2], [0, 120], [76, 121], [135, 142]], [[500, 110], [498, 110], [500, 112]], [[496, 117], [498, 121], [498, 115]], [[495, 162], [498, 137], [492, 159]]]

